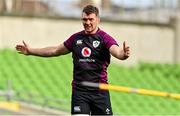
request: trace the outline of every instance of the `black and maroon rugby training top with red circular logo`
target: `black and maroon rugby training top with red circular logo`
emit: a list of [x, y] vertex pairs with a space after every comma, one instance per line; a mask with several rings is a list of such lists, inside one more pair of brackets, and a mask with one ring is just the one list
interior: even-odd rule
[[107, 67], [110, 63], [109, 48], [118, 45], [106, 32], [98, 29], [96, 34], [85, 34], [81, 31], [73, 34], [64, 42], [73, 57], [73, 90], [94, 91], [81, 82], [108, 83]]

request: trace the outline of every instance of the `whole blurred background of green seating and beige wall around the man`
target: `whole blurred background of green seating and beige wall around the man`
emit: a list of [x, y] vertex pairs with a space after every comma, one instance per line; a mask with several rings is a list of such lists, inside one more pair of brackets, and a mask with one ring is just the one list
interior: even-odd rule
[[[180, 0], [0, 0], [0, 114], [70, 114], [71, 54], [24, 56], [15, 46], [62, 43], [83, 29], [87, 4], [131, 48], [128, 60], [112, 58], [110, 84], [180, 92]], [[180, 115], [178, 99], [111, 91], [111, 100], [117, 115]]]

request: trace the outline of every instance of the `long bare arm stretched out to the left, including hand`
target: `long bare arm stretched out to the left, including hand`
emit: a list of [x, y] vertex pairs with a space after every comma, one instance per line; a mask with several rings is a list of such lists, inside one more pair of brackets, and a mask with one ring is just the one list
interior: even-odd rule
[[16, 45], [16, 50], [24, 55], [35, 55], [41, 57], [59, 56], [70, 52], [64, 46], [64, 44], [60, 44], [58, 46], [45, 47], [45, 48], [31, 48], [24, 41], [23, 44]]

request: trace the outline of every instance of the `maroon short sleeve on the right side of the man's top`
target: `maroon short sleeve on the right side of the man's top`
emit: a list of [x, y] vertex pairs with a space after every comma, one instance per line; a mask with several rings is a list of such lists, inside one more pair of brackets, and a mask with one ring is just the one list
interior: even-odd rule
[[111, 37], [109, 34], [104, 35], [104, 43], [107, 49], [109, 49], [112, 45], [119, 46], [116, 40], [113, 37]]

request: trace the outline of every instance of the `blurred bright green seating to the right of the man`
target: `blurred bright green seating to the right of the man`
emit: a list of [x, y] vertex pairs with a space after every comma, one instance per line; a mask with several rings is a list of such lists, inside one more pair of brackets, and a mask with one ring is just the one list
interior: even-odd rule
[[[113, 85], [179, 93], [179, 65], [142, 63], [135, 67], [112, 64], [109, 80]], [[136, 115], [180, 114], [179, 100], [138, 94], [111, 92], [114, 112]], [[128, 107], [128, 108], [127, 108]]]

